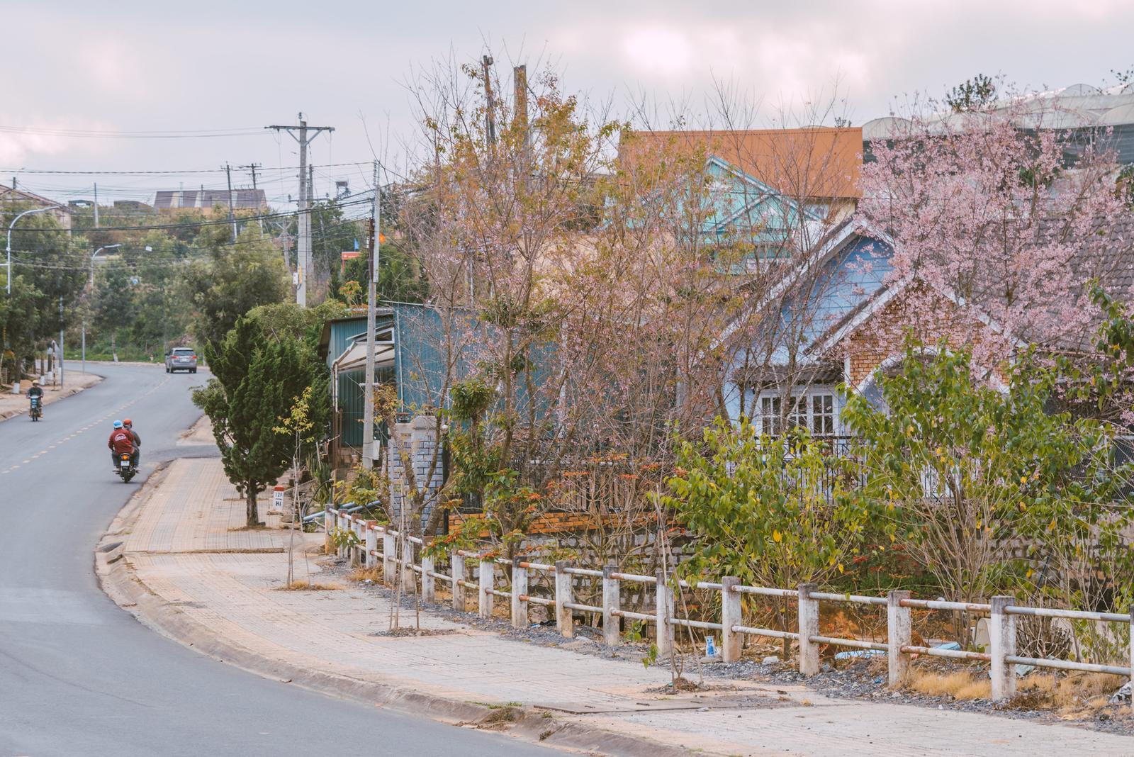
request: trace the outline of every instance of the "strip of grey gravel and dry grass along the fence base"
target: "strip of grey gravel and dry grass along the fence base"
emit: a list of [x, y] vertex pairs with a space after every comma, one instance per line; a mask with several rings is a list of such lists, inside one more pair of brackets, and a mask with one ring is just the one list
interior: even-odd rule
[[[342, 580], [346, 580], [353, 570], [347, 561], [340, 559], [328, 560], [324, 563], [324, 568]], [[380, 584], [354, 584], [354, 586], [386, 599], [392, 596], [392, 592]], [[497, 597], [498, 606], [500, 602], [505, 601]], [[403, 609], [412, 612], [414, 605], [415, 598], [413, 596], [401, 597]], [[559, 647], [606, 660], [625, 660], [635, 665], [642, 664], [643, 658], [649, 654], [649, 644], [645, 643], [627, 643], [617, 649], [611, 649], [602, 644], [602, 632], [590, 626], [576, 626], [575, 638], [568, 639], [559, 635], [553, 621], [547, 626], [533, 624], [528, 628], [517, 629], [513, 628], [505, 620], [480, 618], [475, 612], [456, 612], [448, 605], [422, 604], [422, 609], [428, 609], [431, 615], [462, 623], [467, 628], [496, 631], [506, 638], [524, 644]], [[534, 606], [532, 609], [534, 610]], [[400, 632], [398, 635], [404, 633]], [[763, 652], [759, 649], [763, 649]], [[708, 684], [722, 680], [790, 683], [806, 686], [823, 696], [840, 699], [888, 700], [916, 707], [985, 713], [1002, 717], [1080, 725], [1107, 733], [1134, 735], [1134, 716], [1129, 714], [1128, 705], [1107, 707], [1091, 718], [1067, 720], [1050, 709], [1017, 709], [1010, 706], [995, 705], [987, 699], [954, 699], [948, 695], [931, 697], [908, 690], [890, 691], [886, 688], [886, 658], [881, 656], [872, 660], [827, 661], [823, 664], [822, 672], [809, 679], [801, 675], [790, 664], [773, 663], [765, 665], [760, 662], [767, 655], [779, 655], [780, 647], [778, 644], [763, 645], [759, 649], [755, 658], [743, 658], [736, 663], [726, 664], [719, 660], [683, 655], [678, 664], [682, 675], [693, 681], [703, 678]], [[655, 664], [659, 667], [669, 667], [668, 660], [659, 660]], [[955, 665], [940, 660], [931, 661], [926, 666], [937, 672], [953, 672], [965, 669], [970, 669], [973, 672], [983, 672], [987, 670], [987, 666], [981, 670], [981, 666], [978, 665]]]

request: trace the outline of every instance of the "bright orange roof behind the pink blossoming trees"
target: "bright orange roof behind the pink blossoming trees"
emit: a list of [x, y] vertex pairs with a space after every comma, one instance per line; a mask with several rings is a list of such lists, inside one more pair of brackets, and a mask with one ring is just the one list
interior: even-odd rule
[[862, 128], [745, 129], [725, 131], [634, 131], [619, 159], [645, 153], [703, 148], [789, 196], [858, 198]]

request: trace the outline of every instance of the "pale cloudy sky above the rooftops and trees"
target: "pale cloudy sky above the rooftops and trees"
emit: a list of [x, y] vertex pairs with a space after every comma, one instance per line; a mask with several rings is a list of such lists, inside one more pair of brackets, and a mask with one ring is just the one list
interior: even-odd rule
[[[296, 194], [295, 142], [262, 127], [333, 126], [312, 143], [315, 195], [370, 182], [415, 130], [407, 83], [434, 61], [550, 67], [616, 113], [709, 112], [723, 83], [753, 127], [835, 99], [855, 125], [975, 74], [1025, 88], [1115, 83], [1134, 67], [1134, 1], [457, 2], [0, 0], [0, 184], [57, 201], [151, 202], [223, 188], [261, 164], [277, 207]], [[15, 63], [15, 65], [14, 65]], [[833, 93], [833, 94], [832, 94]], [[133, 133], [133, 134], [132, 134]], [[162, 138], [142, 138], [138, 133]], [[91, 136], [96, 135], [96, 136]], [[88, 171], [91, 173], [35, 173]], [[161, 171], [130, 176], [112, 171]], [[234, 169], [234, 186], [249, 186]]]

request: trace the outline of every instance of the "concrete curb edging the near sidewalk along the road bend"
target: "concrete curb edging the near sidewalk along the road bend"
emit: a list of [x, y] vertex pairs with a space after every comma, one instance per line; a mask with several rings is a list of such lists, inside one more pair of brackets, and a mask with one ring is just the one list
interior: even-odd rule
[[590, 728], [578, 722], [561, 722], [547, 711], [507, 708], [507, 718], [501, 718], [502, 708], [498, 706], [440, 697], [400, 683], [367, 681], [271, 660], [239, 644], [218, 638], [204, 624], [151, 590], [137, 577], [124, 551], [124, 535], [134, 526], [145, 501], [161, 486], [168, 467], [169, 462], [162, 462], [154, 469], [143, 487], [111, 521], [94, 552], [100, 587], [143, 626], [214, 660], [262, 678], [411, 715], [424, 715], [454, 725], [488, 725], [502, 720], [507, 728], [500, 730], [513, 735], [610, 757], [679, 757], [692, 754], [688, 749], [617, 731]]

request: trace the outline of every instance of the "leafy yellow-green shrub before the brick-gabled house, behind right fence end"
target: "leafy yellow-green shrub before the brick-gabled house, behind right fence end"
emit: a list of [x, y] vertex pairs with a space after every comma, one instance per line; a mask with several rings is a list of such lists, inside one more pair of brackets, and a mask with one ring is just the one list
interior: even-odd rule
[[[843, 418], [861, 442], [864, 494], [947, 598], [1031, 590], [1033, 565], [1058, 559], [1069, 581], [1064, 598], [1078, 605], [1073, 587], [1086, 565], [1064, 558], [1117, 543], [1131, 522], [1129, 508], [1115, 507], [1129, 469], [1112, 465], [1114, 428], [1050, 411], [1064, 378], [1029, 352], [1001, 391], [973, 377], [967, 350], [911, 341], [900, 369], [880, 377], [885, 407], [847, 399]], [[1010, 539], [1032, 545], [1025, 564], [1007, 550]], [[957, 631], [967, 639], [966, 619]]]

